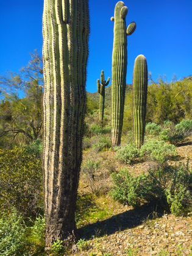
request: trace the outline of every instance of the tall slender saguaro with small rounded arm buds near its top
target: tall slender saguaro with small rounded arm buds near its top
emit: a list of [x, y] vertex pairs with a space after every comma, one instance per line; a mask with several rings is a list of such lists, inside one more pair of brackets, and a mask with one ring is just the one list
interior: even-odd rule
[[124, 99], [126, 91], [127, 74], [127, 35], [131, 35], [136, 24], [132, 22], [126, 29], [126, 15], [128, 9], [124, 2], [119, 1], [115, 5], [114, 17], [114, 39], [112, 54], [112, 144], [121, 143], [121, 132], [123, 127]]

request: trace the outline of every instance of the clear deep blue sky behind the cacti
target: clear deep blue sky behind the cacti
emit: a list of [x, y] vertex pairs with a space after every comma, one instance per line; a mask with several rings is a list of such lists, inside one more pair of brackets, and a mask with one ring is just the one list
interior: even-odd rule
[[[87, 68], [87, 91], [96, 91], [96, 79], [104, 69], [111, 77], [113, 50], [114, 0], [90, 0], [90, 55]], [[171, 81], [192, 75], [192, 1], [132, 0], [128, 7], [127, 26], [137, 23], [127, 37], [127, 83], [132, 83], [133, 64], [139, 54], [148, 62], [154, 80], [166, 74]], [[0, 9], [0, 74], [27, 65], [29, 52], [41, 53], [41, 16], [43, 0], [9, 0]]]

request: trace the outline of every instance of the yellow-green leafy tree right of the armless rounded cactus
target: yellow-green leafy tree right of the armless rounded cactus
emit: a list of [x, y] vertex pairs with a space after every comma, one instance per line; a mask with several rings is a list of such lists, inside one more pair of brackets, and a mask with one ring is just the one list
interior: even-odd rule
[[[150, 76], [149, 76], [150, 77]], [[183, 118], [191, 117], [192, 80], [188, 77], [171, 83], [159, 77], [148, 86], [146, 121], [162, 124], [169, 119], [179, 123]]]

